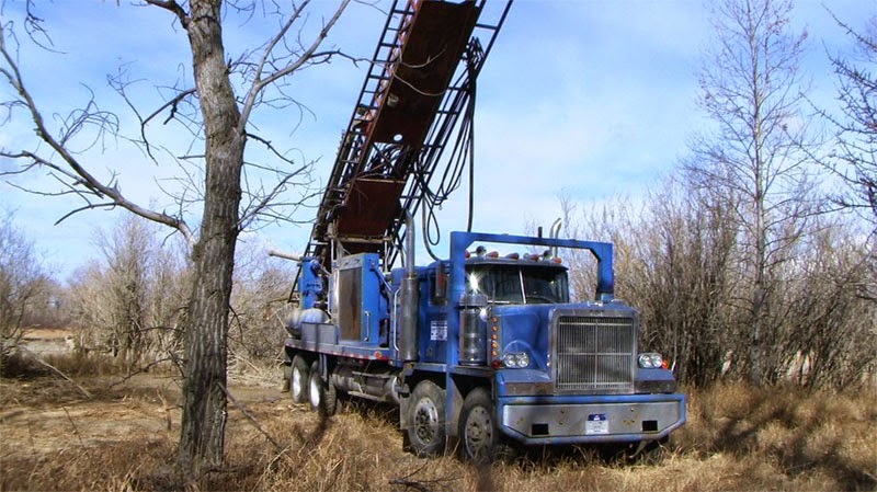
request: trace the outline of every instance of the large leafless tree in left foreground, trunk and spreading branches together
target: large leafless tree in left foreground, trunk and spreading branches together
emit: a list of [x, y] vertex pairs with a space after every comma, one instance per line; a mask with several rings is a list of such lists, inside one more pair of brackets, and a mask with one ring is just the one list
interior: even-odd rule
[[[275, 149], [269, 139], [254, 134], [251, 116], [260, 106], [294, 104], [288, 87], [284, 85], [288, 77], [303, 67], [326, 62], [338, 55], [337, 50], [320, 52], [320, 46], [348, 3], [349, 0], [339, 1], [338, 9], [314, 34], [309, 44], [303, 44], [300, 33], [294, 30], [304, 19], [308, 0], [292, 4], [291, 11], [285, 13], [264, 10], [280, 20], [275, 34], [259, 47], [236, 57], [230, 56], [224, 45], [224, 24], [229, 19], [225, 14], [240, 12], [246, 18], [263, 7], [280, 9], [277, 5], [220, 0], [145, 0], [145, 5], [170, 13], [171, 21], [185, 32], [192, 55], [191, 61], [186, 62], [191, 62], [192, 84], [171, 84], [171, 96], [155, 111], [137, 108], [128, 91], [135, 79], [128, 78], [124, 71], [111, 78], [111, 84], [140, 121], [140, 135], [129, 137], [129, 140], [138, 144], [148, 159], [157, 161], [162, 155], [162, 148], [148, 138], [149, 124], [160, 116], [167, 122], [179, 123], [195, 136], [193, 148], [203, 150], [183, 158], [196, 161], [197, 169], [203, 169], [203, 186], [198, 185], [195, 191], [196, 197], [203, 197], [197, 231], [193, 231], [183, 217], [183, 205], [191, 199], [191, 193], [180, 197], [178, 214], [158, 211], [123, 194], [116, 176], [109, 180], [96, 176], [93, 164], [77, 151], [73, 142], [89, 131], [99, 140], [117, 137], [118, 117], [101, 111], [96, 101], [91, 100], [67, 117], [47, 121], [20, 70], [19, 38], [13, 25], [8, 22], [2, 26], [0, 75], [14, 93], [3, 102], [9, 112], [8, 121], [29, 118], [38, 144], [21, 149], [2, 148], [0, 156], [20, 161], [21, 169], [14, 171], [18, 173], [37, 169], [48, 171], [65, 186], [62, 194], [72, 193], [84, 201], [84, 205], [72, 213], [122, 207], [173, 228], [192, 247], [193, 276], [184, 325], [184, 403], [178, 453], [178, 468], [190, 477], [221, 466], [224, 458], [228, 308], [238, 234], [260, 214], [277, 218], [282, 210], [273, 208], [273, 205], [284, 202], [278, 198], [280, 194], [308, 168], [307, 163], [296, 164]], [[26, 2], [25, 31], [30, 39], [47, 44], [50, 38], [34, 8], [33, 2]], [[55, 126], [50, 125], [53, 122]], [[250, 187], [242, 186], [247, 169], [259, 168], [252, 163], [248, 168], [248, 142], [263, 145], [269, 153], [288, 165], [286, 171], [277, 172], [280, 178], [274, 185], [251, 183]], [[198, 171], [195, 171], [181, 180], [195, 180], [197, 175]], [[191, 188], [186, 191], [191, 192]]]

